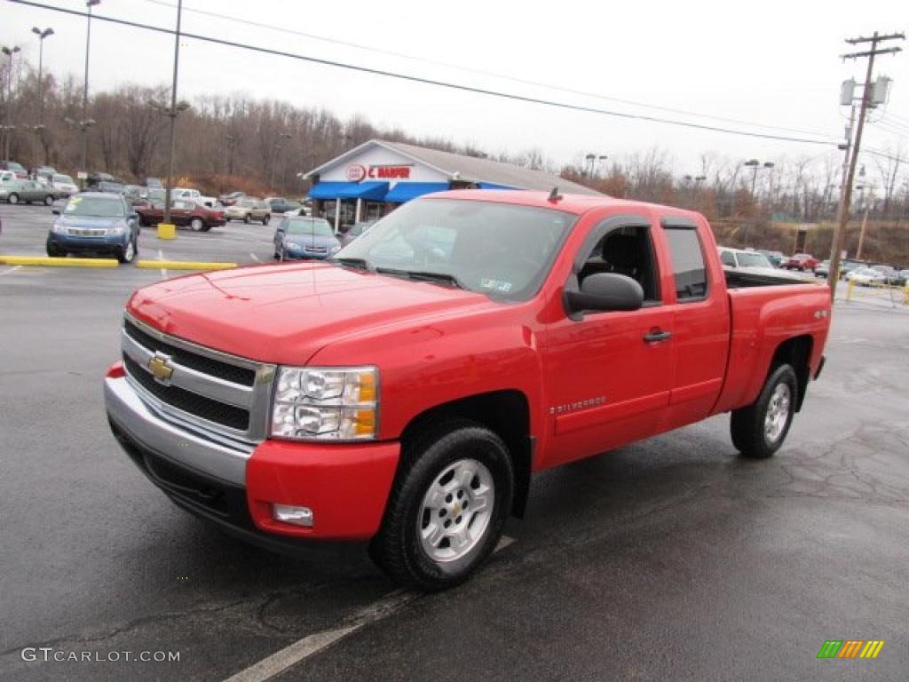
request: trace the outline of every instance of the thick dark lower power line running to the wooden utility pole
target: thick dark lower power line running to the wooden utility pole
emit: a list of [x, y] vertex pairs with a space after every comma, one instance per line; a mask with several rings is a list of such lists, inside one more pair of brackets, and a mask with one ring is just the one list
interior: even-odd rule
[[[65, 7], [55, 7], [53, 5], [42, 5], [40, 3], [31, 2], [31, 0], [9, 0], [16, 5], [27, 5], [31, 7], [36, 7], [38, 9], [47, 9], [53, 12], [59, 12], [66, 15], [74, 16], [86, 16], [85, 13], [79, 12], [72, 9], [66, 9]], [[169, 28], [162, 28], [160, 26], [140, 24], [139, 22], [128, 21], [126, 19], [116, 19], [112, 16], [104, 15], [92, 15], [92, 18], [98, 21], [105, 21], [111, 24], [132, 26], [134, 28], [141, 28], [148, 31], [155, 31], [156, 33], [162, 33], [166, 35], [174, 35], [174, 31]], [[383, 69], [371, 68], [368, 66], [358, 66], [353, 64], [347, 64], [345, 62], [337, 62], [330, 59], [322, 59], [319, 57], [306, 56], [306, 55], [297, 55], [292, 52], [285, 52], [284, 50], [275, 50], [268, 47], [259, 47], [257, 45], [247, 45], [245, 43], [238, 43], [232, 40], [225, 40], [223, 38], [215, 38], [210, 35], [198, 35], [192, 33], [181, 32], [181, 36], [185, 38], [195, 38], [195, 40], [202, 40], [207, 43], [213, 43], [215, 45], [226, 45], [228, 47], [236, 47], [238, 49], [249, 50], [251, 52], [258, 52], [264, 55], [276, 55], [284, 56], [291, 59], [297, 59], [300, 61], [310, 62], [312, 64], [319, 64], [325, 66], [335, 66], [336, 68], [342, 68], [349, 71], [358, 71], [364, 74], [371, 75], [382, 75], [389, 78], [396, 78], [398, 80], [407, 81], [410, 83], [419, 83], [422, 85], [435, 85], [437, 87], [445, 87], [450, 90], [460, 90], [463, 92], [474, 93], [476, 95], [489, 95], [493, 97], [499, 97], [501, 99], [514, 100], [516, 102], [525, 102], [528, 104], [535, 105], [544, 105], [552, 106], [555, 108], [566, 109], [571, 111], [580, 111], [588, 114], [599, 114], [613, 116], [615, 118], [624, 118], [628, 120], [636, 121], [647, 121], [650, 123], [661, 123], [664, 125], [675, 125], [678, 127], [685, 128], [694, 128], [696, 130], [706, 130], [714, 133], [722, 133], [725, 135], [742, 135], [745, 137], [759, 137], [763, 139], [770, 140], [780, 140], [783, 142], [798, 142], [805, 145], [834, 145], [835, 143], [829, 140], [813, 140], [806, 137], [792, 137], [788, 135], [770, 135], [767, 133], [754, 133], [746, 130], [734, 130], [732, 128], [724, 128], [716, 125], [704, 125], [696, 124], [688, 121], [679, 121], [670, 118], [661, 118], [659, 116], [650, 116], [650, 115], [641, 115], [641, 114], [629, 114], [626, 112], [613, 111], [610, 109], [600, 109], [593, 106], [582, 106], [582, 105], [572, 105], [566, 102], [556, 102], [554, 100], [542, 99], [539, 97], [528, 97], [524, 95], [512, 95], [509, 93], [500, 92], [497, 90], [490, 90], [482, 87], [474, 87], [472, 85], [459, 85], [456, 83], [450, 83], [448, 81], [435, 80], [433, 78], [424, 78], [416, 75], [401, 74], [394, 71], [385, 71]]]

